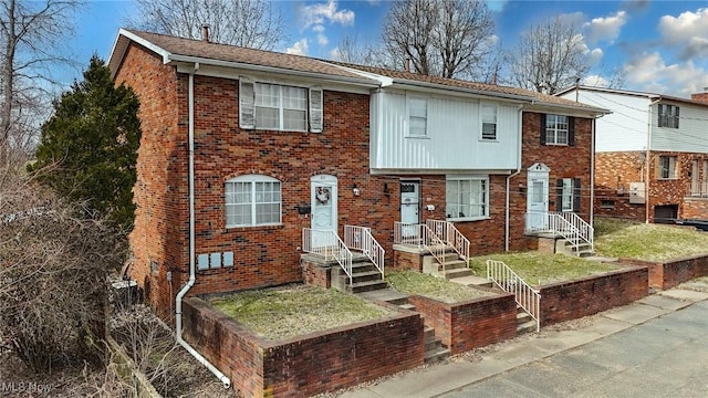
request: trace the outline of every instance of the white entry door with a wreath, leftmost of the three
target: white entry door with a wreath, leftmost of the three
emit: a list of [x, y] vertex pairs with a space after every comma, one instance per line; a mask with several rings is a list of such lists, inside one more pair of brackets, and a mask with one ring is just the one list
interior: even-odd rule
[[319, 175], [310, 178], [310, 198], [312, 206], [312, 247], [332, 247], [336, 241], [331, 234], [316, 231], [337, 232], [336, 196], [337, 179], [330, 175]]

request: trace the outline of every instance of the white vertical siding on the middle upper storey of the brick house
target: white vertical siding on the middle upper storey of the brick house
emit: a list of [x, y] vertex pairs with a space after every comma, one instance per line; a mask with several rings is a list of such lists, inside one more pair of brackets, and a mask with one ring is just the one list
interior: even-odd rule
[[[494, 103], [491, 103], [494, 104]], [[406, 94], [372, 95], [371, 167], [408, 170], [513, 169], [518, 165], [519, 112], [497, 105], [497, 139], [480, 140], [478, 101], [427, 97], [427, 137], [408, 135]]]

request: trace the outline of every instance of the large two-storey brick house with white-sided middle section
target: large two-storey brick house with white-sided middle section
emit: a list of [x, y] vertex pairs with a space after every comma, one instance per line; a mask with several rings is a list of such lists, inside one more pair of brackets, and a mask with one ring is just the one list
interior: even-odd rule
[[483, 254], [524, 249], [528, 214], [592, 220], [598, 107], [127, 30], [110, 67], [142, 104], [128, 273], [163, 318], [190, 264], [190, 295], [302, 281], [306, 228], [371, 228], [391, 259], [395, 221]]

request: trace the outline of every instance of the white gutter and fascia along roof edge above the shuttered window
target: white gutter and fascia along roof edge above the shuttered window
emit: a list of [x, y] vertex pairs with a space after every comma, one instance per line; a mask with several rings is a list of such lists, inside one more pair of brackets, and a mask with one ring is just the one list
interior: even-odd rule
[[212, 65], [212, 66], [220, 66], [220, 67], [227, 67], [227, 69], [238, 69], [238, 70], [244, 70], [244, 71], [256, 71], [256, 72], [262, 72], [262, 73], [277, 73], [277, 74], [291, 75], [291, 76], [301, 76], [301, 77], [309, 77], [309, 78], [326, 80], [326, 81], [339, 82], [339, 83], [347, 83], [347, 84], [353, 84], [353, 85], [361, 85], [361, 86], [366, 86], [366, 87], [371, 87], [371, 88], [378, 87], [378, 83], [373, 82], [371, 80], [366, 80], [366, 78], [353, 78], [353, 77], [346, 77], [346, 76], [323, 75], [322, 73], [316, 73], [316, 72], [303, 72], [303, 71], [284, 70], [284, 69], [274, 67], [274, 66], [248, 64], [248, 63], [232, 62], [232, 61], [220, 61], [220, 60], [212, 60], [212, 59], [206, 59], [206, 57], [200, 57], [200, 56], [170, 54], [169, 55], [169, 62], [167, 62], [167, 63], [176, 63], [178, 65], [177, 72], [186, 71], [186, 70], [183, 70], [183, 67], [179, 67], [179, 63], [189, 63], [189, 64], [198, 63], [200, 65]]

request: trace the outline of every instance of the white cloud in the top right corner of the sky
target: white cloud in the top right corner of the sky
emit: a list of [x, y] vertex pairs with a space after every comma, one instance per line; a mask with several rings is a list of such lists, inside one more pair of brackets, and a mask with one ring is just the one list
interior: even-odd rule
[[708, 8], [686, 11], [678, 17], [664, 15], [658, 30], [665, 45], [678, 46], [681, 60], [708, 57]]

